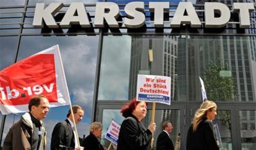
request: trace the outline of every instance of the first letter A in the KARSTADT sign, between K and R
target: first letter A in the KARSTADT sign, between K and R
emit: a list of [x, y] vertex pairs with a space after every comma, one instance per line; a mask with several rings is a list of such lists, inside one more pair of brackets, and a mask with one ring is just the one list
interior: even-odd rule
[[[76, 12], [77, 15], [75, 15]], [[72, 2], [59, 25], [62, 28], [70, 28], [71, 25], [81, 25], [84, 28], [90, 27], [90, 22], [83, 2]]]

